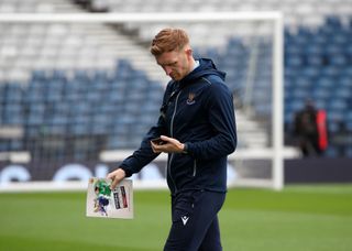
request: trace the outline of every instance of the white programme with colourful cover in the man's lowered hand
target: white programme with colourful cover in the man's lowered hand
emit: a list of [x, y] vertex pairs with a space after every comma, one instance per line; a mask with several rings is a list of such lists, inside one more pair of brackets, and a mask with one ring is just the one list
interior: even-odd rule
[[87, 217], [133, 218], [133, 189], [131, 179], [122, 179], [111, 190], [111, 181], [91, 177], [87, 190]]

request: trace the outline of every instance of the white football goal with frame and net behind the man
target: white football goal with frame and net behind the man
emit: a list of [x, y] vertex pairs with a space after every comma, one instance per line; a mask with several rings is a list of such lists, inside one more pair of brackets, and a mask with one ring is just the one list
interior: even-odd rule
[[[168, 81], [148, 52], [166, 26], [187, 30], [195, 56], [227, 73], [239, 138], [229, 185], [280, 189], [277, 12], [1, 14], [0, 189], [82, 188], [131, 154], [156, 121]], [[161, 154], [133, 176], [136, 186], [165, 187], [165, 166]]]

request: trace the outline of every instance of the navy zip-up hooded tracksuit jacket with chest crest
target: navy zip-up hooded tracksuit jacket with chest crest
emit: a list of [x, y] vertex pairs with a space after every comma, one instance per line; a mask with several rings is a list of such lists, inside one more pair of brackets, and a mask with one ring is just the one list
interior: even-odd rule
[[227, 190], [227, 156], [237, 146], [232, 94], [224, 73], [211, 59], [180, 81], [169, 81], [157, 124], [152, 127], [133, 155], [120, 165], [131, 176], [153, 161], [150, 141], [162, 134], [186, 144], [187, 154], [172, 153], [167, 184], [172, 194], [189, 189]]

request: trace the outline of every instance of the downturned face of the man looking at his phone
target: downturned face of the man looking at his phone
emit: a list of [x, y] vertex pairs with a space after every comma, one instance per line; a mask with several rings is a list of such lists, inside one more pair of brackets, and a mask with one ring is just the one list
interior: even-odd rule
[[191, 50], [180, 50], [163, 53], [155, 57], [166, 75], [173, 80], [183, 79], [191, 70]]

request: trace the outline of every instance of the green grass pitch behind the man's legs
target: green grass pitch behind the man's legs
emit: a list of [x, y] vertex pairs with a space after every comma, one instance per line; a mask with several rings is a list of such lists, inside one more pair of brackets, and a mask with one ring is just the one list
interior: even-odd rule
[[[0, 194], [1, 251], [157, 251], [169, 228], [166, 190], [134, 194], [133, 220], [86, 218], [84, 193]], [[232, 188], [224, 251], [352, 250], [352, 185]]]

